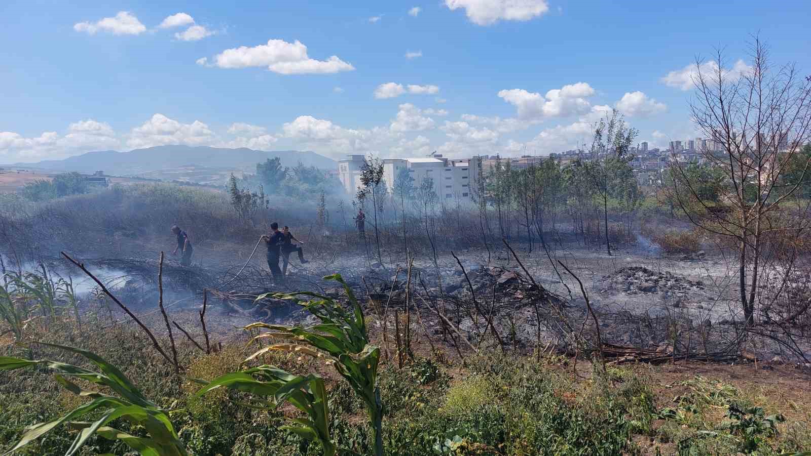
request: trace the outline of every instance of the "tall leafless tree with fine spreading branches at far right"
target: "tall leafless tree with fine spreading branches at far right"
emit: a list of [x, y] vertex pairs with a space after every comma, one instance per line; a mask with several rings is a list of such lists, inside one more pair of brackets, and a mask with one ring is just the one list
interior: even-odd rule
[[703, 156], [723, 170], [726, 182], [720, 202], [707, 202], [675, 160], [672, 173], [680, 178], [672, 180], [672, 197], [698, 228], [733, 241], [740, 306], [746, 326], [752, 326], [769, 238], [796, 235], [811, 223], [808, 207], [789, 211], [784, 204], [811, 177], [809, 157], [800, 173], [786, 178], [809, 140], [811, 82], [793, 63], [773, 66], [768, 46], [757, 36], [750, 45], [751, 67], [730, 69], [723, 49], [714, 57], [696, 59], [691, 110], [708, 141]]

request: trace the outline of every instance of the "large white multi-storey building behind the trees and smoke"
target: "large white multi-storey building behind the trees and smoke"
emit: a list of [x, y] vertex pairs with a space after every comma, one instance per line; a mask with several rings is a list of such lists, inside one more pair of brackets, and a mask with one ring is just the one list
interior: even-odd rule
[[[434, 193], [440, 202], [473, 200], [473, 188], [478, 176], [477, 160], [450, 160], [440, 155], [424, 158], [397, 158], [383, 160], [383, 179], [388, 190], [393, 190], [397, 174], [407, 169], [414, 179], [413, 185], [418, 188], [425, 179], [430, 178]], [[355, 194], [361, 186], [360, 173], [365, 159], [363, 156], [349, 156], [338, 161], [338, 176], [348, 194]]]

